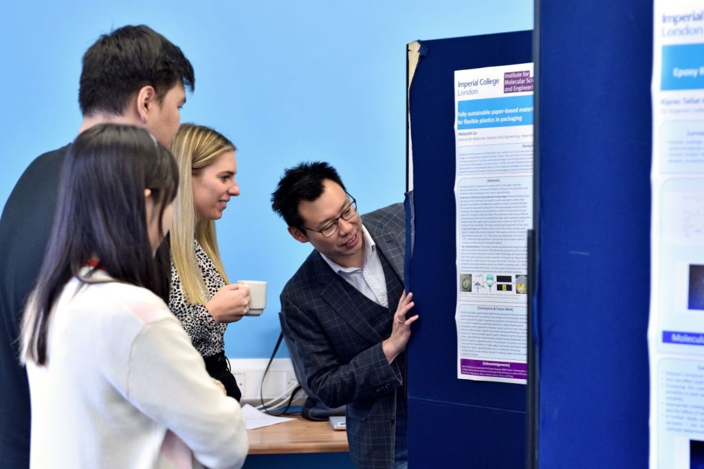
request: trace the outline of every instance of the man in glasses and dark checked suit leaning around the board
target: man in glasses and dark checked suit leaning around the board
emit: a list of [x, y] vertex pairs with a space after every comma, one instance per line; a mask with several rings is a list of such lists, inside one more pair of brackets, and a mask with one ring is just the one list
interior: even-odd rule
[[418, 316], [406, 316], [403, 206], [361, 217], [337, 171], [313, 162], [287, 169], [272, 209], [315, 248], [281, 293], [308, 387], [327, 406], [347, 405], [358, 468], [406, 468], [404, 351]]

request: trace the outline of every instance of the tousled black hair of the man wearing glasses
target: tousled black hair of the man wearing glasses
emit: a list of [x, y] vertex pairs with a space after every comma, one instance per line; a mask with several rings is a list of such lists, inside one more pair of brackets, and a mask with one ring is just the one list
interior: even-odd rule
[[312, 202], [320, 197], [325, 189], [322, 181], [329, 179], [347, 192], [334, 167], [324, 161], [301, 162], [287, 168], [279, 179], [276, 191], [271, 195], [271, 208], [282, 217], [288, 226], [301, 228], [303, 219], [298, 213], [298, 203]]

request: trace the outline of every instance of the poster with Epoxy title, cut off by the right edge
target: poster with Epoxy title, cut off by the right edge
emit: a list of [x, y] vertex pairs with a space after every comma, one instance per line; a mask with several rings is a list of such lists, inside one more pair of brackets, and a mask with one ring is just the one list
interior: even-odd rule
[[650, 467], [704, 467], [704, 7], [653, 22]]

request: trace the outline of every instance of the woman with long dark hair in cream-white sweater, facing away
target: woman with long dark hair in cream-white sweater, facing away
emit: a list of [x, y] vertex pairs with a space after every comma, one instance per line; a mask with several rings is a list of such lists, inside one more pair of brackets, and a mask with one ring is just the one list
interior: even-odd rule
[[241, 467], [239, 404], [158, 296], [172, 155], [144, 129], [99, 124], [75, 139], [62, 174], [21, 336], [30, 466]]

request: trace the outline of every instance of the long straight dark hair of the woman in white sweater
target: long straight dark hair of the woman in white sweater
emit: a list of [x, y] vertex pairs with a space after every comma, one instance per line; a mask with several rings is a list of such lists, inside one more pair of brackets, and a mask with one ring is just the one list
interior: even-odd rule
[[39, 365], [46, 364], [51, 308], [89, 259], [97, 257], [115, 281], [160, 293], [166, 273], [153, 259], [144, 189], [151, 189], [160, 229], [178, 190], [170, 151], [148, 131], [127, 125], [99, 124], [80, 134], [61, 175], [54, 225], [23, 326], [23, 359]]

